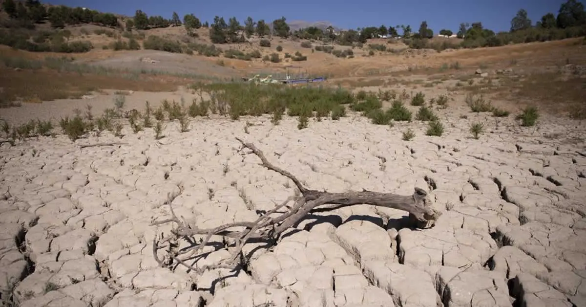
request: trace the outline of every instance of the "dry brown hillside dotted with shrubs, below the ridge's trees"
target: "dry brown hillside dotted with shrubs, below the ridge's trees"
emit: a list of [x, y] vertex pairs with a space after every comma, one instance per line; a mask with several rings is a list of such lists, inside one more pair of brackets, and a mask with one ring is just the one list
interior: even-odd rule
[[[81, 53], [54, 52], [63, 48], [49, 47], [49, 52], [28, 52], [0, 46], [0, 103], [6, 107], [79, 98], [104, 89], [172, 92], [179, 85], [195, 82], [289, 74], [326, 76], [326, 86], [373, 92], [374, 96], [362, 100], [366, 102], [379, 95], [380, 112], [361, 107], [352, 110], [381, 123], [396, 120], [391, 113], [397, 101], [447, 107], [447, 100], [435, 100], [450, 96], [464, 102], [466, 93], [483, 95], [493, 102], [498, 107], [490, 110], [495, 116], [519, 112], [529, 105], [539, 107], [540, 112], [571, 114], [578, 119], [586, 116], [582, 98], [584, 38], [440, 52], [438, 48], [410, 48], [413, 40], [367, 39], [343, 46], [278, 35], [252, 35], [242, 42], [227, 38], [227, 43], [214, 45], [217, 38], [205, 27], [124, 28], [82, 24], [55, 30], [40, 23], [30, 30], [32, 41], [41, 45], [88, 42], [92, 48]], [[461, 41], [435, 37], [425, 43], [452, 46]], [[145, 53], [151, 50], [144, 49], [158, 51]], [[162, 58], [166, 62], [159, 60]], [[205, 71], [201, 69], [204, 66]], [[482, 75], [475, 73], [477, 69]], [[393, 97], [381, 97], [377, 94], [380, 91], [392, 92]], [[412, 97], [419, 92], [425, 98], [413, 103]], [[417, 111], [411, 111], [415, 117]]]

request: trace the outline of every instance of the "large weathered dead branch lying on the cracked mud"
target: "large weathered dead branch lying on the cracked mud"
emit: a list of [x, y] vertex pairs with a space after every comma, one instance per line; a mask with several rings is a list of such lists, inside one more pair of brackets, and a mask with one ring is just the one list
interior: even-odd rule
[[[256, 221], [233, 222], [212, 229], [200, 229], [195, 227], [195, 225], [189, 225], [187, 222], [179, 220], [173, 211], [172, 200], [169, 200], [167, 204], [171, 211], [171, 218], [151, 223], [151, 225], [161, 225], [169, 222], [177, 224], [177, 227], [171, 230], [171, 235], [168, 237], [161, 236], [159, 239], [155, 236], [153, 240], [152, 252], [159, 265], [171, 266], [180, 264], [198, 273], [206, 269], [235, 268], [239, 265], [240, 261], [246, 258], [243, 255], [242, 249], [249, 239], [267, 239], [274, 243], [284, 231], [314, 211], [323, 212], [356, 204], [370, 204], [407, 211], [410, 214], [411, 220], [415, 222], [414, 226], [420, 228], [431, 227], [441, 215], [441, 212], [435, 211], [430, 207], [430, 200], [427, 197], [427, 193], [420, 188], [415, 188], [413, 195], [377, 193], [366, 190], [345, 193], [309, 190], [291, 173], [270, 163], [264, 156], [263, 151], [254, 146], [254, 144], [246, 143], [239, 138], [236, 139], [243, 145], [241, 150], [245, 148], [250, 149], [252, 153], [260, 158], [263, 167], [291, 179], [301, 195], [289, 197], [284, 203], [262, 214]], [[287, 206], [290, 201], [294, 201], [291, 207]], [[287, 208], [284, 213], [275, 214], [283, 207]], [[231, 228], [237, 228], [238, 230], [230, 230]], [[205, 238], [199, 245], [182, 251], [173, 250], [172, 247], [177, 246], [176, 241], [182, 238], [188, 239], [195, 235], [205, 235]], [[193, 259], [193, 257], [202, 254], [203, 248], [209, 243], [213, 235], [223, 236], [224, 248], [230, 251], [230, 258], [224, 259], [224, 261], [217, 264], [205, 266], [193, 266], [186, 263], [187, 260], [185, 259]], [[190, 240], [195, 241], [193, 239]], [[160, 259], [157, 255], [158, 249], [163, 248], [163, 246], [159, 245], [161, 241], [166, 242], [167, 244], [164, 247], [168, 248], [164, 259]]]

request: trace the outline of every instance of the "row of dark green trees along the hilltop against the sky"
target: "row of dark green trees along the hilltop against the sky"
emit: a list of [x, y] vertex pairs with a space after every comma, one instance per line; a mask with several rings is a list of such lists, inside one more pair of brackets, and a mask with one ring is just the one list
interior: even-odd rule
[[[586, 12], [584, 11], [584, 5], [577, 0], [567, 0], [564, 4], [561, 4], [557, 16], [553, 13], [548, 13], [542, 16], [540, 21], [535, 24], [527, 16], [527, 11], [520, 9], [511, 21], [509, 32], [495, 33], [484, 28], [482, 22], [461, 23], [456, 36], [464, 39], [464, 41], [461, 43], [436, 42], [434, 45], [428, 41], [434, 36], [434, 31], [427, 21], [421, 22], [417, 32], [413, 31], [410, 25], [368, 26], [357, 28], [356, 30], [350, 29], [341, 33], [336, 33], [332, 26], [325, 30], [309, 27], [292, 32], [284, 16], [275, 19], [270, 24], [265, 22], [264, 19], [254, 21], [250, 16], [244, 21], [244, 24], [241, 24], [236, 17], [232, 17], [226, 22], [222, 16], [215, 16], [212, 23], [202, 23], [193, 14], [186, 14], [181, 20], [179, 15], [173, 12], [172, 18], [166, 19], [162, 16], [148, 16], [138, 9], [133, 18], [119, 21], [117, 16], [113, 14], [79, 7], [69, 8], [61, 5], [50, 6], [49, 9], [46, 9], [37, 0], [26, 0], [24, 3], [5, 0], [2, 3], [2, 8], [11, 18], [20, 21], [20, 25], [23, 27], [30, 28], [32, 25], [32, 28], [34, 28], [35, 23], [45, 21], [49, 21], [54, 28], [62, 28], [64, 25], [94, 23], [118, 27], [127, 31], [184, 26], [190, 36], [197, 36], [196, 29], [207, 28], [209, 29], [211, 41], [217, 44], [241, 43], [245, 42], [247, 37], [257, 35], [260, 38], [277, 36], [280, 38], [316, 40], [353, 46], [366, 43], [367, 39], [384, 37], [402, 39], [403, 42], [414, 49], [434, 48], [443, 50], [447, 48], [476, 48], [501, 46], [509, 43], [550, 41], [586, 35]], [[401, 35], [399, 31], [401, 31]], [[441, 29], [439, 33], [446, 36], [454, 34], [449, 29]], [[28, 47], [31, 49], [30, 46]]]

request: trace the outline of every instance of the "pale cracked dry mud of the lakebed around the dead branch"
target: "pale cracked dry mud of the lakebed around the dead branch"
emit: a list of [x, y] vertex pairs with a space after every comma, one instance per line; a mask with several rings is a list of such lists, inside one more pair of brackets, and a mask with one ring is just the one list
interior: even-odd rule
[[[507, 119], [473, 140], [468, 120], [444, 119], [443, 137], [408, 124], [413, 141], [401, 141], [404, 124], [350, 116], [304, 130], [252, 118], [249, 134], [244, 121], [193, 119], [187, 133], [168, 123], [160, 141], [125, 127], [121, 146], [80, 149], [66, 136], [3, 145], [2, 296], [21, 306], [586, 306], [586, 150], [568, 141], [583, 140], [582, 126]], [[273, 248], [247, 244], [241, 271], [159, 268], [149, 224], [169, 217], [169, 195], [177, 215], [214, 227], [295, 194], [235, 136], [309, 188], [421, 187], [444, 214], [415, 230], [406, 212], [356, 205], [309, 215]], [[206, 248], [200, 264], [229, 257]]]

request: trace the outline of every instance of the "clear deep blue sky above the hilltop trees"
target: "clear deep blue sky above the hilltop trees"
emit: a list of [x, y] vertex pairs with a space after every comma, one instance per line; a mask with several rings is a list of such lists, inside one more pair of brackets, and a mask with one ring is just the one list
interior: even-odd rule
[[[356, 29], [364, 26], [411, 25], [413, 31], [419, 29], [421, 21], [438, 33], [440, 29], [458, 31], [461, 22], [482, 22], [485, 28], [495, 32], [509, 31], [510, 20], [519, 9], [526, 9], [533, 23], [541, 16], [552, 12], [557, 15], [565, 0], [298, 0], [298, 1], [261, 1], [261, 0], [52, 0], [42, 1], [50, 4], [82, 6], [101, 12], [134, 16], [137, 9], [147, 15], [161, 15], [171, 18], [173, 11], [181, 19], [193, 13], [202, 22], [212, 22], [215, 15], [228, 19], [232, 16], [243, 23], [247, 16], [255, 21], [285, 16], [287, 20], [329, 21], [343, 29]], [[584, 3], [584, 2], [582, 2]]]

